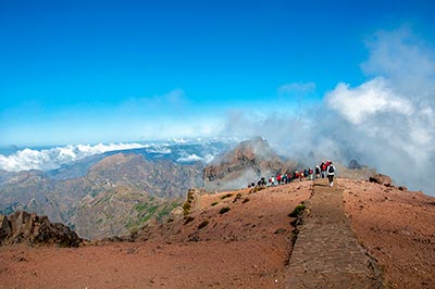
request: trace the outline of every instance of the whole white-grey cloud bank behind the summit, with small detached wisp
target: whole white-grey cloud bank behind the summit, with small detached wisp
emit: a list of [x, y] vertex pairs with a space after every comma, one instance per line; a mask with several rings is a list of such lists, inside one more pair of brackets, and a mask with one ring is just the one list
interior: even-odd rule
[[[435, 194], [434, 49], [407, 27], [377, 32], [365, 45], [364, 83], [338, 83], [322, 103], [298, 114], [235, 113], [227, 129], [243, 137], [261, 135], [293, 158], [310, 151], [345, 164], [355, 158], [399, 185]], [[287, 85], [279, 92], [313, 87]]]

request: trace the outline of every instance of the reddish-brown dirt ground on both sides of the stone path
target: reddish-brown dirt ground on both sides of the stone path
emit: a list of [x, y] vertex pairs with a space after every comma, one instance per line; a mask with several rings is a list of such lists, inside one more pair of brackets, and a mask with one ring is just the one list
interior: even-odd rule
[[[336, 183], [357, 237], [391, 287], [435, 288], [435, 198]], [[284, 288], [288, 214], [310, 198], [311, 187], [200, 196], [189, 222], [154, 226], [137, 242], [1, 247], [0, 288]]]

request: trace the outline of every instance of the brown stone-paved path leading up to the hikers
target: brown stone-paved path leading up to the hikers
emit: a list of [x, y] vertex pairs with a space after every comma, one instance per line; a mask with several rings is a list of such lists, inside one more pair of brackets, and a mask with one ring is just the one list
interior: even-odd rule
[[[336, 183], [336, 181], [334, 181]], [[290, 256], [286, 288], [382, 288], [345, 215], [343, 192], [314, 181]]]

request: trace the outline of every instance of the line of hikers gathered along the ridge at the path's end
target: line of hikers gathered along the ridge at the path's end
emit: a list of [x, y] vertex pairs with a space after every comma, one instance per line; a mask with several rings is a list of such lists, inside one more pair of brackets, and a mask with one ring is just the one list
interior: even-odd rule
[[276, 185], [284, 185], [295, 180], [314, 180], [314, 178], [325, 178], [327, 177], [330, 181], [330, 187], [334, 186], [334, 175], [335, 175], [335, 166], [333, 165], [332, 161], [322, 161], [319, 164], [315, 164], [314, 169], [312, 167], [304, 168], [304, 169], [296, 169], [295, 172], [290, 173], [287, 172], [285, 174], [276, 174], [274, 176], [260, 178], [257, 184], [251, 183], [248, 185], [248, 188], [253, 188], [256, 186], [276, 186]]

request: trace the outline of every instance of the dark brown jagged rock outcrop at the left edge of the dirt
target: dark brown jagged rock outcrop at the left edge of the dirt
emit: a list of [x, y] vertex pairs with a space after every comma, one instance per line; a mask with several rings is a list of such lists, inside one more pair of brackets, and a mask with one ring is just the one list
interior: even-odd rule
[[67, 226], [24, 211], [0, 215], [0, 244], [58, 244], [78, 247], [83, 240]]

